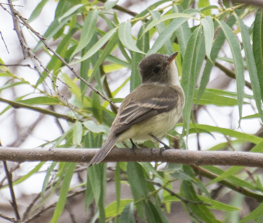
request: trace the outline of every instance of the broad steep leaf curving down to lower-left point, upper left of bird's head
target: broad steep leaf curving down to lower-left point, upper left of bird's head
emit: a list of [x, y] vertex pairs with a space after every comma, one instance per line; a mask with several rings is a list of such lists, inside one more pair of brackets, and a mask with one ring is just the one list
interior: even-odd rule
[[73, 57], [75, 54], [84, 49], [91, 41], [95, 32], [98, 15], [98, 10], [92, 10], [89, 12], [82, 27], [79, 44], [75, 51], [72, 53], [71, 57]]

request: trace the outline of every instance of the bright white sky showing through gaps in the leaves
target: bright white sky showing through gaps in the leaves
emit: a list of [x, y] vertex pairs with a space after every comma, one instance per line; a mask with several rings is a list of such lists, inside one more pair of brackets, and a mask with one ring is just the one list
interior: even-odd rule
[[[0, 0], [0, 2], [7, 3], [7, 0]], [[22, 14], [22, 16], [24, 16], [25, 18], [29, 18], [31, 12], [34, 10], [34, 8], [39, 2], [40, 0], [18, 0], [18, 1], [15, 1], [14, 4], [24, 5], [24, 7], [16, 7], [16, 9]], [[122, 2], [124, 2], [124, 0], [120, 0], [119, 4], [122, 4]], [[154, 3], [154, 1], [150, 1], [150, 3], [152, 4]], [[54, 0], [50, 0], [44, 7], [40, 16], [35, 21], [30, 23], [30, 25], [33, 28], [35, 28], [37, 32], [41, 34], [45, 33], [46, 29], [48, 28], [50, 23], [53, 21], [54, 10], [55, 10], [56, 4], [57, 2], [55, 2]], [[137, 5], [134, 5], [131, 8], [131, 10], [140, 12], [142, 11], [142, 9], [145, 9], [147, 5], [149, 5], [149, 3], [146, 1], [143, 1], [139, 9], [137, 8], [138, 7]], [[6, 8], [8, 8], [8, 5], [6, 5]], [[130, 18], [128, 15], [124, 15], [123, 17], [121, 17], [121, 21], [125, 21], [128, 18]], [[28, 46], [31, 49], [33, 49], [37, 43], [35, 37], [29, 34], [29, 32], [27, 32], [25, 27], [23, 28], [23, 30], [24, 30], [25, 39], [28, 40], [27, 42]], [[27, 64], [29, 63], [31, 64], [31, 66], [33, 66], [31, 59], [23, 60], [21, 47], [19, 45], [17, 35], [15, 31], [13, 30], [12, 17], [7, 12], [5, 12], [2, 8], [0, 8], [0, 31], [2, 33], [3, 39], [9, 51], [9, 54], [8, 54], [5, 49], [3, 41], [0, 39], [0, 58], [4, 61], [4, 63], [6, 64], [13, 64], [13, 63]], [[228, 52], [227, 54], [229, 57], [231, 57], [230, 52]], [[20, 61], [18, 61], [18, 58], [20, 59]], [[41, 59], [45, 64], [45, 62], [47, 63], [48, 59], [50, 58], [41, 57]], [[12, 71], [12, 69], [10, 70]], [[118, 75], [120, 74], [120, 72], [123, 72], [123, 71], [115, 72], [114, 74], [110, 76], [111, 79], [114, 79], [114, 81], [110, 83], [110, 87], [112, 89], [116, 88], [119, 81], [123, 81], [125, 79], [125, 77], [123, 77], [123, 80], [119, 80], [118, 82], [115, 81], [115, 80], [118, 80]], [[14, 74], [20, 77], [23, 77], [25, 80], [29, 81], [32, 84], [35, 84], [39, 78], [39, 74], [37, 74], [36, 71], [29, 69], [29, 68], [25, 68], [25, 67], [19, 67], [17, 71], [14, 72]], [[127, 75], [129, 74], [130, 74], [130, 71], [127, 72]], [[126, 78], [127, 78], [127, 75], [126, 75]], [[212, 79], [219, 78], [220, 75], [222, 75], [222, 72], [219, 71], [218, 69], [214, 69], [214, 72], [211, 74], [210, 81]], [[247, 74], [246, 74], [246, 79], [249, 80], [249, 77]], [[5, 78], [2, 78], [2, 77], [0, 78], [0, 87], [3, 86], [5, 81], [6, 81]], [[129, 93], [129, 89], [130, 89], [129, 85], [126, 85], [126, 89], [124, 89], [122, 93], [118, 94], [116, 97], [122, 97], [122, 98], [125, 97]], [[19, 96], [25, 95], [26, 92], [27, 93], [32, 92], [32, 89], [29, 89], [28, 87], [25, 87], [25, 86], [16, 87], [15, 90], [16, 90], [16, 93], [21, 92], [21, 94], [18, 94]], [[236, 92], [235, 81], [233, 81], [229, 85], [228, 89], [226, 90]], [[245, 93], [252, 94], [252, 91], [248, 90], [248, 88], [245, 88]], [[3, 90], [0, 93], [0, 97], [9, 99], [9, 100], [13, 100], [13, 94], [10, 90]], [[0, 102], [0, 111], [6, 108], [6, 106], [7, 104]], [[14, 117], [11, 112], [12, 110], [13, 109], [10, 109], [9, 111], [5, 112], [3, 115], [0, 116], [0, 141], [2, 143], [2, 146], [9, 145], [16, 138], [17, 133], [14, 134], [13, 132]], [[210, 115], [212, 115], [216, 124], [210, 118], [210, 115], [207, 113], [207, 111], [204, 111], [204, 110], [199, 111], [199, 117], [198, 117], [199, 123], [208, 124], [208, 125], [217, 125], [219, 127], [224, 127], [224, 128], [233, 128], [234, 130], [244, 131], [246, 133], [251, 133], [251, 134], [256, 133], [257, 130], [260, 128], [260, 122], [258, 119], [247, 119], [247, 120], [243, 119], [241, 121], [241, 128], [238, 129], [238, 117], [239, 116], [238, 116], [237, 107], [228, 108], [228, 107], [208, 106], [207, 110], [210, 112]], [[24, 126], [25, 130], [39, 116], [37, 112], [29, 111], [25, 109], [19, 109], [18, 113], [19, 113], [19, 117], [18, 117], [19, 122], [22, 126]], [[243, 116], [253, 114], [253, 113], [254, 111], [250, 105], [246, 105], [243, 107]], [[65, 121], [61, 121], [61, 124], [64, 130], [68, 128], [68, 125]], [[21, 134], [21, 132], [18, 134]], [[21, 145], [21, 147], [22, 148], [35, 148], [45, 143], [46, 141], [51, 141], [51, 140], [56, 139], [60, 135], [61, 133], [54, 122], [54, 118], [46, 115], [46, 117], [42, 120], [41, 124], [38, 125], [38, 127], [34, 130], [32, 136], [28, 137], [28, 139]], [[218, 144], [219, 142], [226, 141], [225, 138], [220, 134], [213, 134], [213, 135], [215, 136], [215, 139], [208, 134], [200, 135], [202, 149], [204, 150], [209, 149], [212, 146]], [[190, 150], [197, 149], [196, 134], [192, 134], [189, 136], [188, 147]], [[25, 172], [27, 172], [28, 169], [33, 167], [34, 165], [35, 164], [32, 164], [32, 163], [30, 164], [25, 163], [25, 164], [22, 164], [22, 167], [23, 167], [22, 169]], [[24, 173], [21, 172], [21, 174], [24, 174]], [[29, 178], [24, 183], [22, 183], [19, 186], [19, 189], [16, 186], [15, 187], [16, 196], [19, 197], [19, 191], [22, 193], [28, 193], [28, 191], [39, 192], [42, 187], [42, 183], [39, 183], [39, 182], [43, 181], [44, 176], [45, 174], [34, 174], [33, 177]], [[3, 193], [3, 192], [4, 191], [2, 190], [2, 192], [0, 193]], [[9, 199], [8, 197], [9, 193], [5, 193], [5, 194], [7, 195], [6, 198]]]

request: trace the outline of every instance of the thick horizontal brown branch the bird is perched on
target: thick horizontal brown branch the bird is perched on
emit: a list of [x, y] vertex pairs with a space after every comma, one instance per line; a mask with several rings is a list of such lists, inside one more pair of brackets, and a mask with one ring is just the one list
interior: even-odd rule
[[[21, 149], [12, 147], [0, 148], [0, 160], [57, 161], [88, 163], [99, 149], [37, 148]], [[113, 148], [104, 162], [167, 162], [193, 166], [245, 166], [263, 168], [263, 154], [251, 152], [226, 151], [189, 151], [136, 148], [134, 152], [128, 148]]]

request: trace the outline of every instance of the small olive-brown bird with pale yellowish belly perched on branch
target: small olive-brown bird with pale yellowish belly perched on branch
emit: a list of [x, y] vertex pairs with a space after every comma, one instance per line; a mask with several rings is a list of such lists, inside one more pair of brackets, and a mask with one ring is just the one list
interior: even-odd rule
[[172, 55], [152, 54], [138, 64], [142, 84], [127, 95], [109, 129], [108, 138], [88, 167], [102, 162], [116, 143], [160, 139], [182, 115], [184, 91]]

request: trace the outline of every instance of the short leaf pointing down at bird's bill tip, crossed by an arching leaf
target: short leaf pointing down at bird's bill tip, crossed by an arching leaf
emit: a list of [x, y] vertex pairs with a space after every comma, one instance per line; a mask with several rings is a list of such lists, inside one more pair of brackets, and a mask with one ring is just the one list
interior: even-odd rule
[[[174, 5], [172, 7], [172, 10], [176, 13], [183, 12], [183, 8], [180, 5]], [[188, 23], [183, 23], [176, 31], [176, 36], [178, 38], [178, 43], [180, 47], [180, 53], [182, 54], [182, 57], [185, 55], [185, 50], [187, 47], [187, 43], [189, 41], [189, 38], [191, 36], [191, 29], [188, 26]]]

